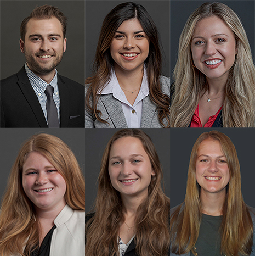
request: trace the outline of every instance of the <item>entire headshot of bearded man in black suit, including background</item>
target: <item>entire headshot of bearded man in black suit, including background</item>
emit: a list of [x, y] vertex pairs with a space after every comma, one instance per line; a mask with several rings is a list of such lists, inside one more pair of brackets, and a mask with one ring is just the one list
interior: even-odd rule
[[84, 127], [84, 2], [1, 1], [1, 24], [1, 127]]

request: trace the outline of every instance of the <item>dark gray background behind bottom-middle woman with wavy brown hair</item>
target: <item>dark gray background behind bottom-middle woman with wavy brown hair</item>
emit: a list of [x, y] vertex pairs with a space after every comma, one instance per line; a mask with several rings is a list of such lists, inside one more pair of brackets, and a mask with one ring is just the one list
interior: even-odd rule
[[[86, 213], [91, 210], [97, 196], [97, 179], [101, 158], [107, 142], [121, 129], [86, 129]], [[163, 166], [165, 193], [170, 196], [170, 129], [141, 129], [150, 136]]]

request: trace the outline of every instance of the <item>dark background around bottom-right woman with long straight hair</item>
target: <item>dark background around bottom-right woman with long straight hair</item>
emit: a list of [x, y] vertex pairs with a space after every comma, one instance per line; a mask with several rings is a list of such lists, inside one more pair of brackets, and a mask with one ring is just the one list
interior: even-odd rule
[[201, 133], [211, 130], [225, 133], [234, 143], [240, 162], [243, 198], [246, 204], [255, 208], [255, 131], [253, 128], [171, 129], [171, 208], [184, 201], [190, 153], [196, 139]]

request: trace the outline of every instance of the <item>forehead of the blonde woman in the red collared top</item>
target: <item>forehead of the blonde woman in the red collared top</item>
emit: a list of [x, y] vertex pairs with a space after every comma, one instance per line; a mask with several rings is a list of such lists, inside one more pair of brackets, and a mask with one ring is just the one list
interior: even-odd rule
[[225, 22], [217, 16], [211, 16], [200, 20], [194, 30], [194, 36], [213, 36], [226, 34], [228, 36], [234, 36], [233, 31], [229, 28]]

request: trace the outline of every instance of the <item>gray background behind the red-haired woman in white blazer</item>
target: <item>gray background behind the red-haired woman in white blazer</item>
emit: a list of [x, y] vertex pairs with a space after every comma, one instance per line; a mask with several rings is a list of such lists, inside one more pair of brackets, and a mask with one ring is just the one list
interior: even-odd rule
[[15, 162], [21, 144], [36, 133], [48, 133], [63, 140], [75, 154], [85, 175], [85, 130], [82, 128], [13, 128], [0, 129], [0, 200], [7, 186], [10, 169]]

